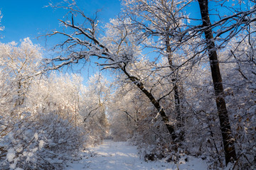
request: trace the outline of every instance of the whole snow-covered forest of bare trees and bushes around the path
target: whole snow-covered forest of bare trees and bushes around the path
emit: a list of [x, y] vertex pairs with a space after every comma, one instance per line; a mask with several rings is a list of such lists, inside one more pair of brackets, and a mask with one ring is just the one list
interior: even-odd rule
[[[49, 3], [67, 12], [40, 37], [50, 49], [0, 40], [0, 169], [63, 169], [106, 139], [146, 161], [256, 169], [256, 1], [120, 3], [108, 23]], [[85, 84], [72, 69], [88, 65]]]

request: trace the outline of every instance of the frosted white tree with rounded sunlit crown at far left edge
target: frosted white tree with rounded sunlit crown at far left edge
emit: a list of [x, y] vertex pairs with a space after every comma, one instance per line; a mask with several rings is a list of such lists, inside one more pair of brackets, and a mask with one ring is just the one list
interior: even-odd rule
[[16, 86], [16, 101], [14, 107], [21, 106], [25, 100], [25, 94], [38, 74], [41, 66], [41, 47], [33, 45], [29, 38], [24, 38], [17, 47], [16, 42], [8, 44], [0, 43], [1, 68], [8, 70], [13, 77]]

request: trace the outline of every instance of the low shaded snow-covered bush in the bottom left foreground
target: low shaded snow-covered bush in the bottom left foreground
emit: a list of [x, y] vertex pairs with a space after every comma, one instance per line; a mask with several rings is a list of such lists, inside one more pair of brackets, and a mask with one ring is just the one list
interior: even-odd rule
[[14, 122], [9, 121], [11, 132], [0, 139], [4, 169], [62, 169], [85, 141], [82, 128], [53, 113], [27, 113]]

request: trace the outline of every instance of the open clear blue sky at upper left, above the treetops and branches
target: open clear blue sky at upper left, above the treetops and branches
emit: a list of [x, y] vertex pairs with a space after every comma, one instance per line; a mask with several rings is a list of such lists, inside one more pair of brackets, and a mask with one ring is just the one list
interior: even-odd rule
[[[55, 0], [58, 2], [61, 0]], [[1, 31], [1, 42], [11, 42], [29, 37], [34, 43], [45, 46], [45, 40], [37, 40], [36, 37], [44, 35], [50, 30], [59, 28], [58, 18], [62, 18], [66, 11], [53, 10], [48, 5], [50, 0], [2, 0], [0, 10], [3, 15], [1, 25], [5, 27]], [[100, 21], [107, 23], [120, 11], [119, 0], [77, 0], [78, 6], [89, 16], [97, 9], [100, 12]]]

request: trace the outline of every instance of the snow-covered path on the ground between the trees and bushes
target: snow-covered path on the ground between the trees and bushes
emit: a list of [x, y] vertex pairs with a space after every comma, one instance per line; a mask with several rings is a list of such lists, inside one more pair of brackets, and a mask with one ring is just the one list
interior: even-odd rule
[[137, 148], [129, 145], [128, 142], [113, 142], [105, 140], [102, 145], [91, 147], [82, 155], [83, 159], [70, 162], [66, 170], [80, 169], [103, 169], [103, 170], [174, 170], [174, 169], [189, 169], [189, 170], [206, 170], [207, 164], [202, 159], [188, 157], [188, 162], [185, 162], [185, 157], [178, 162], [166, 163], [164, 161], [145, 162], [143, 158], [137, 154]]

